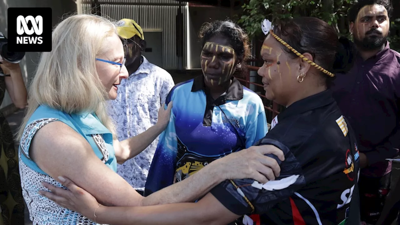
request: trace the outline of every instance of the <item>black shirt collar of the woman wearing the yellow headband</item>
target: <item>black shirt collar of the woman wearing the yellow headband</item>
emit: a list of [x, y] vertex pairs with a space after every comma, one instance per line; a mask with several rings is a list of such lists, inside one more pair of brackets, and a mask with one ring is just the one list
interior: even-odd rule
[[294, 115], [298, 115], [316, 108], [320, 108], [326, 106], [328, 104], [334, 103], [335, 100], [332, 97], [331, 90], [324, 90], [318, 94], [314, 94], [312, 96], [308, 96], [307, 98], [303, 98], [291, 104], [288, 108], [286, 108], [282, 113], [279, 114], [279, 120], [282, 120], [287, 117], [291, 117]]

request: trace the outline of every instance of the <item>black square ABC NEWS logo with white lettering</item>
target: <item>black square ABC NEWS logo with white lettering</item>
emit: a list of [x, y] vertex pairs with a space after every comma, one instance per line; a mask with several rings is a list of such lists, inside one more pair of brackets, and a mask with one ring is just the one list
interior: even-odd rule
[[50, 52], [51, 8], [8, 8], [8, 51]]

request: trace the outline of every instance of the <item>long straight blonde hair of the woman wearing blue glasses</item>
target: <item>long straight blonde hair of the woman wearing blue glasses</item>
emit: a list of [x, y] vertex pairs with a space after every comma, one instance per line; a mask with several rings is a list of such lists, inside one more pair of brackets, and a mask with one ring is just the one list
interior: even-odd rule
[[52, 32], [52, 51], [43, 52], [29, 90], [28, 110], [17, 134], [20, 141], [36, 108], [46, 105], [68, 114], [94, 112], [115, 134], [106, 112], [106, 90], [96, 71], [95, 58], [105, 52], [104, 39], [117, 35], [110, 20], [95, 15], [74, 15]]

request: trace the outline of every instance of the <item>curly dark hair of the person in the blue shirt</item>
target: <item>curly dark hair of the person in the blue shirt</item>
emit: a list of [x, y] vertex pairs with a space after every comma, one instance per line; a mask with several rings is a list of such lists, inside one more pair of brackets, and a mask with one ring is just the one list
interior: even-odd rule
[[[232, 20], [216, 20], [211, 23], [205, 23], [200, 28], [199, 38], [202, 39], [202, 46], [210, 38], [222, 35], [228, 38], [230, 45], [235, 50], [238, 60], [243, 65], [250, 58], [249, 38], [244, 30]], [[241, 66], [242, 68], [245, 66]]]

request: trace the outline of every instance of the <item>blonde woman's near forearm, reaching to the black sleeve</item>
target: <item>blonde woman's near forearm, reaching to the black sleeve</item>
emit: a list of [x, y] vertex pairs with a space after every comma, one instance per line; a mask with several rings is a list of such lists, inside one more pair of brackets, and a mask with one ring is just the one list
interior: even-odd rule
[[218, 165], [210, 163], [194, 175], [152, 193], [142, 199], [142, 205], [161, 205], [180, 202], [193, 202], [208, 193], [213, 187], [224, 181], [218, 173]]

